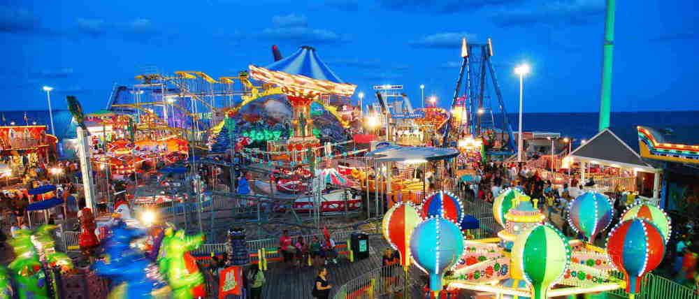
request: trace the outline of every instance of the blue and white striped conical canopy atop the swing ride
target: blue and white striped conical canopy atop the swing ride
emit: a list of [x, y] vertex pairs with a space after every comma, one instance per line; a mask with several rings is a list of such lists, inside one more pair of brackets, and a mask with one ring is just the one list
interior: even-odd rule
[[316, 80], [345, 83], [320, 60], [315, 49], [304, 45], [291, 56], [265, 66], [269, 71], [280, 71], [289, 75], [303, 75]]

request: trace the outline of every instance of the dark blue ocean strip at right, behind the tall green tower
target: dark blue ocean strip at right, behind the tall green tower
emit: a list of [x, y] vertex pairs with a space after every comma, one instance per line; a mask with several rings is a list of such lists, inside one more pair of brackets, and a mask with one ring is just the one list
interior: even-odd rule
[[[493, 114], [498, 127], [501, 127], [500, 115]], [[598, 133], [597, 112], [552, 112], [524, 113], [524, 131], [549, 131], [572, 137], [579, 144], [582, 139], [589, 139]], [[517, 131], [519, 115], [507, 115], [512, 130]], [[610, 119], [612, 129], [617, 127], [635, 128], [650, 126], [655, 129], [673, 129], [688, 132], [695, 140], [699, 139], [699, 110], [696, 111], [658, 111], [658, 112], [612, 112]], [[696, 133], [693, 133], [696, 132]]]

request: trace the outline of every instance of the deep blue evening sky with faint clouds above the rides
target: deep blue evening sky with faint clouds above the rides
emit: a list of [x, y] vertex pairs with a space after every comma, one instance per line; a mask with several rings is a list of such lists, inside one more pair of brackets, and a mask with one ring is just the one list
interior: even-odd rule
[[[217, 78], [317, 49], [343, 80], [419, 85], [447, 105], [462, 36], [493, 39], [508, 112], [517, 112], [512, 68], [532, 66], [526, 112], [597, 111], [603, 0], [2, 1], [3, 110], [45, 108], [68, 94], [103, 108], [112, 86], [136, 83], [143, 66], [203, 71]], [[8, 3], [13, 2], [13, 3]], [[612, 110], [697, 110], [695, 1], [619, 1]]]

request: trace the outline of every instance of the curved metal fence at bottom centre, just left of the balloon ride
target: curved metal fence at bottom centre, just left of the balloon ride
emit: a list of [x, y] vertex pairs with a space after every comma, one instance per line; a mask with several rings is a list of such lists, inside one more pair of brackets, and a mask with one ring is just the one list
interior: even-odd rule
[[373, 299], [389, 293], [401, 292], [408, 286], [417, 284], [412, 277], [415, 268], [405, 271], [398, 265], [389, 265], [356, 277], [337, 289], [333, 299]]

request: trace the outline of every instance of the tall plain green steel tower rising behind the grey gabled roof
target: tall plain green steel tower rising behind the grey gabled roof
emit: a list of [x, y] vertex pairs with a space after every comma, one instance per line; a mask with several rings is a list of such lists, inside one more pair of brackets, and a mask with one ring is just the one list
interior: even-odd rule
[[605, 44], [602, 62], [602, 92], [600, 96], [600, 131], [610, 126], [612, 110], [612, 62], [614, 59], [614, 7], [615, 0], [607, 0], [605, 18]]

